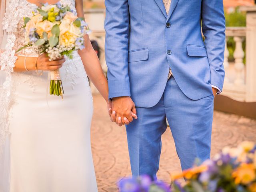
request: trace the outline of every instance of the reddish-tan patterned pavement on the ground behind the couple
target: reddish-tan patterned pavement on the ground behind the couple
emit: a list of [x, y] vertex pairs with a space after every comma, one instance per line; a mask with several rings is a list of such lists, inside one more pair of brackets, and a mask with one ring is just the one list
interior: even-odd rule
[[[130, 176], [130, 162], [125, 127], [110, 122], [106, 104], [100, 95], [94, 95], [92, 119], [92, 153], [99, 192], [117, 192], [116, 182]], [[224, 146], [236, 146], [243, 140], [256, 140], [256, 120], [214, 112], [212, 154]], [[170, 173], [180, 172], [170, 128], [162, 136], [162, 154], [158, 178], [170, 182]]]

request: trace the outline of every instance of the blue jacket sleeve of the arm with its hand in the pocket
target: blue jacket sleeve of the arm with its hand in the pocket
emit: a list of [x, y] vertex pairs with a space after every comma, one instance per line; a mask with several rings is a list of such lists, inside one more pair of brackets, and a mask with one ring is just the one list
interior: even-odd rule
[[211, 71], [211, 84], [222, 91], [224, 83], [225, 17], [222, 0], [202, 0], [202, 31]]

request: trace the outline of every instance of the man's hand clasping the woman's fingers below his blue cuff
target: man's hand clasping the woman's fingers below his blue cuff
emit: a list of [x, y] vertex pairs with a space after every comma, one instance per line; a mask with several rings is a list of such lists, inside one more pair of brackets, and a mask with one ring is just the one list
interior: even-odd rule
[[111, 120], [119, 126], [132, 122], [134, 114], [134, 118], [137, 118], [135, 104], [127, 96], [113, 98], [112, 111]]

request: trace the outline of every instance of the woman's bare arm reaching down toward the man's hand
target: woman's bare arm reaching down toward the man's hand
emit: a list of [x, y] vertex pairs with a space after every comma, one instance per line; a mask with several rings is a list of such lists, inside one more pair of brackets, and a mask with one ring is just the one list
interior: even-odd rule
[[[78, 17], [84, 18], [84, 10], [83, 10], [83, 1], [76, 0], [76, 10]], [[84, 36], [85, 40], [85, 48], [83, 50], [79, 50], [78, 54], [82, 58], [82, 62], [84, 64], [84, 68], [86, 73], [92, 83], [99, 90], [100, 94], [104, 97], [106, 102], [108, 102], [108, 82], [103, 73], [102, 67], [100, 65], [100, 61], [94, 49], [92, 48], [92, 44], [90, 42], [89, 36]]]

